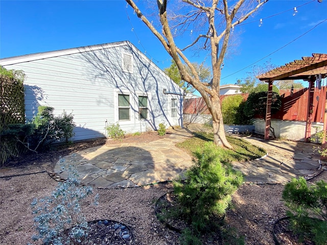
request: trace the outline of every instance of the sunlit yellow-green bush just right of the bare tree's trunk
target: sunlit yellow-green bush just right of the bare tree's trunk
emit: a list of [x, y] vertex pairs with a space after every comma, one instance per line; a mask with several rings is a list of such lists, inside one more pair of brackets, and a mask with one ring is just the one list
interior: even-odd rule
[[221, 103], [224, 123], [227, 125], [248, 124], [250, 121], [245, 116], [244, 110], [245, 100], [242, 95], [229, 95], [224, 98]]

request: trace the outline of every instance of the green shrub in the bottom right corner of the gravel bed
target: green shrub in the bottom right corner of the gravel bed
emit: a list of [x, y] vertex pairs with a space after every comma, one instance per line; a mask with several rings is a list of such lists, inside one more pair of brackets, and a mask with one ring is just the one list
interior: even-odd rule
[[282, 197], [289, 208], [287, 215], [291, 217], [291, 229], [299, 235], [300, 240], [309, 239], [317, 245], [325, 245], [327, 183], [321, 180], [308, 186], [303, 177], [292, 179], [285, 185]]

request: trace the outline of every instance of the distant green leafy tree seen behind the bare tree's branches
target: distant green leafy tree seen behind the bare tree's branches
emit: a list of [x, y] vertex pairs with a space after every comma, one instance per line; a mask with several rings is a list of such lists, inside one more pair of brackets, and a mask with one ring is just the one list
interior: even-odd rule
[[[164, 69], [165, 74], [169, 76], [186, 93], [193, 93], [196, 89], [191, 84], [186, 83], [184, 80], [181, 79], [176, 62], [174, 60], [172, 60], [171, 62], [172, 62], [171, 65]], [[209, 67], [207, 67], [204, 64], [198, 64], [196, 62], [192, 63], [192, 65], [195, 67], [196, 71], [198, 72], [201, 82], [207, 83], [210, 81], [212, 74]], [[185, 69], [191, 73], [190, 68], [186, 65], [184, 66]]]

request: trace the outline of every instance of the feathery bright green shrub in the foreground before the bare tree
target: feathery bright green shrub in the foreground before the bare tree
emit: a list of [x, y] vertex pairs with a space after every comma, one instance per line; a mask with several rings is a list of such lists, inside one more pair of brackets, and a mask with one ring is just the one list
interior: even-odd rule
[[203, 153], [197, 152], [197, 163], [185, 174], [185, 181], [174, 182], [183, 218], [198, 231], [213, 225], [211, 220], [223, 217], [231, 195], [243, 182], [240, 171], [223, 165], [214, 143], [206, 143]]

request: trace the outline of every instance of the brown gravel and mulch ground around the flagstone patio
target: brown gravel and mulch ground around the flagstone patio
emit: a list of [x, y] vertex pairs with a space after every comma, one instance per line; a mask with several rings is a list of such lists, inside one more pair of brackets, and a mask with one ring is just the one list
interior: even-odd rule
[[[169, 134], [163, 137], [169, 137]], [[128, 136], [123, 142], [151, 142], [159, 138], [162, 137], [152, 132]], [[116, 142], [103, 139], [77, 142], [68, 149], [56, 148], [45, 154], [27, 154], [1, 166], [0, 244], [32, 242], [31, 236], [35, 230], [30, 204], [34, 198], [50, 195], [57, 185], [44, 170], [52, 171], [60, 156], [110, 143]], [[314, 180], [320, 179], [327, 181], [327, 174], [323, 172]], [[281, 201], [283, 189], [281, 184], [244, 184], [233, 195], [233, 207], [226, 216], [227, 227], [235, 228], [239, 235], [244, 236], [245, 244], [274, 244], [272, 226], [286, 213]], [[154, 214], [155, 201], [171, 190], [170, 183], [126, 189], [94, 189], [100, 196], [99, 205], [93, 206], [86, 201], [83, 212], [88, 220], [112, 219], [129, 225], [137, 244], [179, 244], [179, 234], [168, 230]], [[219, 244], [215, 240], [204, 240], [204, 244]]]

